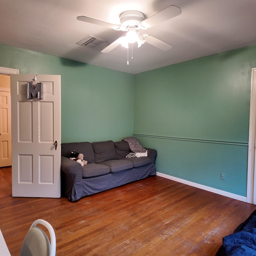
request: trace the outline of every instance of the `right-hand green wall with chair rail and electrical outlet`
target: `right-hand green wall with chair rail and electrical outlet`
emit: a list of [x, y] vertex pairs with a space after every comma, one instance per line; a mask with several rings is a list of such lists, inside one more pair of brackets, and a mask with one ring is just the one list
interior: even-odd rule
[[255, 45], [135, 75], [134, 136], [158, 172], [246, 196], [253, 67]]

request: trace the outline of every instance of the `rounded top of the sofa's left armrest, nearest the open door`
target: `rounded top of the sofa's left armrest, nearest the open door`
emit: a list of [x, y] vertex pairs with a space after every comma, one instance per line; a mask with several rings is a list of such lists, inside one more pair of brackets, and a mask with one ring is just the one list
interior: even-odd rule
[[69, 174], [74, 182], [82, 180], [83, 178], [81, 164], [65, 156], [61, 157], [60, 169], [66, 175]]

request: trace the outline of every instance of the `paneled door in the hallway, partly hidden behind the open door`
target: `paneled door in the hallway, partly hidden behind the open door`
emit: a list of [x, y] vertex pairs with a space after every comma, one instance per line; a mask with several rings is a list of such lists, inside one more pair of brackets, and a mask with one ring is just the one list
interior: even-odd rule
[[11, 165], [11, 96], [10, 92], [0, 92], [0, 167]]

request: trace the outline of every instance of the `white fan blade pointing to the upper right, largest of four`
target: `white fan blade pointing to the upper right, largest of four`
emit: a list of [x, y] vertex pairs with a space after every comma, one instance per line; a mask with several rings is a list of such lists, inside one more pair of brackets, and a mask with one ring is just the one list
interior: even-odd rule
[[166, 9], [147, 18], [146, 20], [143, 20], [141, 22], [141, 24], [145, 28], [151, 28], [152, 26], [155, 26], [156, 24], [159, 24], [166, 20], [170, 20], [171, 18], [174, 18], [180, 14], [181, 14], [180, 8], [178, 8], [177, 6], [171, 5], [171, 6], [167, 7]]

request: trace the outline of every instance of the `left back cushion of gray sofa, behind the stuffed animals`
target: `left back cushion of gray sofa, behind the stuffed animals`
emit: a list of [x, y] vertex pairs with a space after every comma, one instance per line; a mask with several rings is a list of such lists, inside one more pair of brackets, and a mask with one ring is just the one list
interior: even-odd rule
[[84, 154], [84, 160], [88, 163], [95, 163], [94, 152], [90, 142], [72, 142], [61, 144], [61, 155], [69, 158], [70, 152], [76, 150], [79, 154]]

